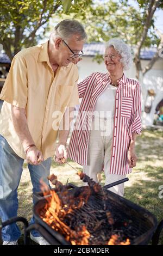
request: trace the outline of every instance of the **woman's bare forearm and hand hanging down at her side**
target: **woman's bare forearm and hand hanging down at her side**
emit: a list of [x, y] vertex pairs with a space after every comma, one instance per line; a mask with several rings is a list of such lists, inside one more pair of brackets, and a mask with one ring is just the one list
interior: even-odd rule
[[135, 154], [135, 142], [136, 142], [137, 133], [132, 132], [132, 139], [130, 141], [129, 149], [128, 149], [128, 162], [129, 167], [133, 168], [136, 166], [137, 156]]

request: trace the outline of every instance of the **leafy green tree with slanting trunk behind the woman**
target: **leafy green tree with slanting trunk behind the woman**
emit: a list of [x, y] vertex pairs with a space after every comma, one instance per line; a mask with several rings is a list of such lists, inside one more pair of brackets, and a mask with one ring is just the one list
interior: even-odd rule
[[[163, 43], [161, 33], [154, 27], [154, 13], [158, 8], [163, 9], [162, 0], [137, 0], [137, 7], [129, 4], [128, 0], [121, 1], [93, 1], [85, 13], [80, 15], [74, 10], [74, 6], [68, 10], [68, 16], [78, 19], [84, 23], [88, 42], [108, 41], [112, 37], [121, 37], [127, 44], [134, 46], [134, 63], [136, 68], [136, 78], [145, 75], [152, 68], [159, 58], [159, 52]], [[55, 19], [57, 17], [54, 15]], [[67, 15], [61, 14], [60, 18]], [[140, 51], [142, 47], [156, 46], [151, 62], [142, 69]], [[99, 61], [99, 56], [96, 59]]]

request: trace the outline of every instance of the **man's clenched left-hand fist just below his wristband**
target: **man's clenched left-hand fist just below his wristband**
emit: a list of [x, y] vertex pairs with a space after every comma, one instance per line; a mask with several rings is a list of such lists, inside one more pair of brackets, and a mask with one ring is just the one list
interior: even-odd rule
[[39, 165], [40, 162], [43, 162], [42, 152], [36, 147], [28, 149], [26, 154], [27, 163], [33, 164], [35, 166]]

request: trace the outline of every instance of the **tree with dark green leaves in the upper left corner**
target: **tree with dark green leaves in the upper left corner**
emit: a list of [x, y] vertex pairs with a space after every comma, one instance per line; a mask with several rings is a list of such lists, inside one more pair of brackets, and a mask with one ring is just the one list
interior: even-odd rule
[[[91, 0], [1, 0], [0, 44], [10, 59], [45, 35], [53, 14], [65, 13], [72, 5], [84, 8]], [[45, 29], [46, 28], [46, 29]]]

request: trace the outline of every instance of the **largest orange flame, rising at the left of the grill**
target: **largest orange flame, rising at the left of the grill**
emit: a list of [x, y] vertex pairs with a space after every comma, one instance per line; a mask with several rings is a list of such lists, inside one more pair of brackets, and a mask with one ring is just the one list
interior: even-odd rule
[[[41, 214], [41, 218], [48, 225], [50, 225], [54, 230], [59, 231], [67, 241], [70, 241], [72, 245], [89, 245], [90, 233], [87, 231], [86, 227], [82, 225], [78, 230], [72, 230], [68, 225], [64, 223], [64, 218], [67, 214], [73, 212], [74, 209], [83, 206], [90, 196], [90, 189], [86, 189], [82, 196], [79, 196], [78, 203], [70, 197], [68, 197], [68, 204], [62, 204], [58, 194], [54, 190], [49, 190], [48, 186], [41, 182], [41, 189], [43, 195], [47, 196], [51, 194], [51, 197], [47, 197], [47, 204], [45, 206], [45, 211]], [[67, 195], [67, 191], [62, 193], [62, 197]]]

